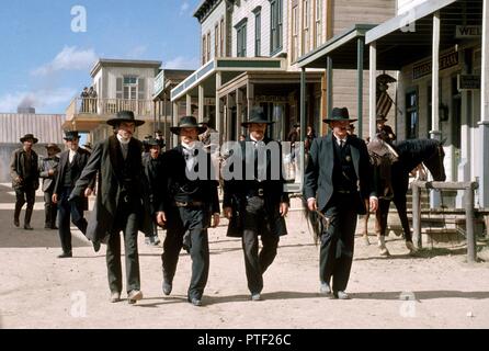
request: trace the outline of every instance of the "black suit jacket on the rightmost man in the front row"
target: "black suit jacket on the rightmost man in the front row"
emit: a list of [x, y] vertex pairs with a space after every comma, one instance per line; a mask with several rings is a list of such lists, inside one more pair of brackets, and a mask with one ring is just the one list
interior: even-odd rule
[[[305, 172], [304, 197], [317, 199], [318, 210], [323, 211], [330, 202], [333, 188], [334, 145], [332, 133], [316, 138], [309, 151], [309, 159]], [[359, 190], [359, 202], [355, 205], [359, 214], [365, 214], [365, 199], [376, 196], [373, 185], [372, 168], [365, 143], [357, 137], [348, 137], [352, 162], [355, 169]]]

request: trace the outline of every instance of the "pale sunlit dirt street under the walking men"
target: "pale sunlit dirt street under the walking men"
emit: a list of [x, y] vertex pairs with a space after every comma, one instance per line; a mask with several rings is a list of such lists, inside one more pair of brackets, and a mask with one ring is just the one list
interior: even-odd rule
[[410, 257], [401, 239], [389, 237], [391, 257], [382, 258], [376, 245], [365, 246], [357, 237], [348, 286], [352, 299], [319, 295], [318, 248], [299, 211], [288, 215], [289, 235], [281, 239], [265, 273], [261, 302], [250, 301], [240, 241], [227, 238], [220, 226], [209, 231], [211, 274], [203, 307], [186, 302], [186, 253], [180, 257], [172, 294], [162, 295], [162, 249], [146, 246], [141, 234], [145, 297], [137, 305], [125, 299], [111, 304], [105, 247], [93, 252], [73, 230], [73, 258], [57, 259], [58, 233], [43, 229], [43, 199], [36, 201], [35, 230], [15, 228], [13, 192], [10, 184], [0, 185], [1, 328], [489, 327], [489, 263], [467, 264], [464, 246]]

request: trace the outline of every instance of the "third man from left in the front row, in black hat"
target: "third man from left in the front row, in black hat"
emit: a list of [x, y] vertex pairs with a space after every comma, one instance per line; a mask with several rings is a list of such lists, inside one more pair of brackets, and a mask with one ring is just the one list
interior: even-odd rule
[[280, 236], [287, 234], [285, 215], [289, 201], [284, 192], [282, 150], [277, 141], [265, 136], [272, 123], [261, 109], [250, 111], [248, 122], [241, 124], [249, 135], [237, 144], [227, 160], [232, 177], [223, 174], [224, 213], [230, 219], [227, 235], [241, 237], [252, 301], [261, 299], [263, 273], [275, 259]]

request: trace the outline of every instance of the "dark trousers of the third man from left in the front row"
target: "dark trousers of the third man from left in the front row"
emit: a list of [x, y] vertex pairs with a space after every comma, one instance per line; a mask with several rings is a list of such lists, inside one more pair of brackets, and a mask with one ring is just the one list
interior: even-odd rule
[[[263, 290], [263, 273], [276, 257], [280, 237], [268, 229], [268, 216], [264, 200], [259, 196], [250, 197], [244, 207], [242, 250], [244, 252], [244, 268], [248, 288], [252, 294]], [[261, 235], [262, 249], [259, 252]]]

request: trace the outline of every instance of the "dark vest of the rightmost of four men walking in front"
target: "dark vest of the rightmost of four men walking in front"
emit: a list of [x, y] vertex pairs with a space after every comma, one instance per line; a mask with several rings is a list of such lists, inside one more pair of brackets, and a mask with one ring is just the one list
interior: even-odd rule
[[350, 145], [346, 143], [340, 148], [333, 138], [334, 145], [334, 167], [333, 167], [333, 186], [334, 191], [356, 191], [356, 173], [353, 166]]

